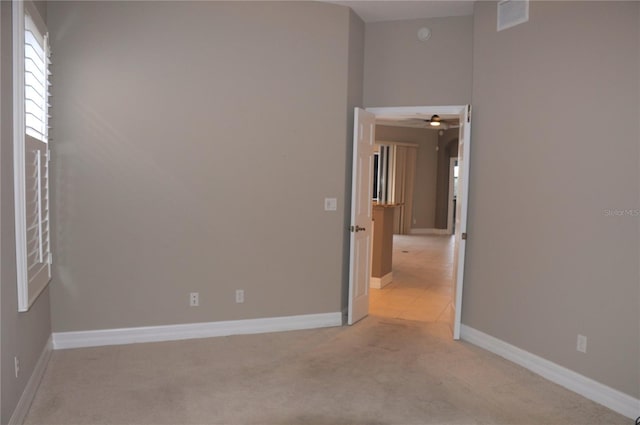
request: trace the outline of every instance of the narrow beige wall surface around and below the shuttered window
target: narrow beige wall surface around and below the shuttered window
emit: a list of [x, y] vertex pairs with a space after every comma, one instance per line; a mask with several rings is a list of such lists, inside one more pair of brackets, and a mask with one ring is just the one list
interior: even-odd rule
[[[46, 7], [38, 4], [42, 14]], [[45, 290], [29, 312], [18, 313], [16, 288], [15, 216], [13, 200], [13, 96], [11, 2], [0, 2], [0, 347], [2, 363], [0, 423], [13, 414], [51, 335], [49, 291]], [[14, 374], [13, 359], [20, 360], [20, 375]]]

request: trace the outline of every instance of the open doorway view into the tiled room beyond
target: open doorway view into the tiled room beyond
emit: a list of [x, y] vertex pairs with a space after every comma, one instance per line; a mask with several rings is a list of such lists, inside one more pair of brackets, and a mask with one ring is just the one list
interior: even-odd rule
[[[389, 158], [391, 165], [395, 165], [389, 167], [389, 183], [410, 188], [405, 196], [389, 199], [394, 205], [395, 216], [404, 217], [408, 226], [396, 226], [398, 220], [394, 220], [394, 234], [392, 238], [384, 239], [389, 246], [382, 249], [376, 237], [380, 230], [377, 222], [381, 218], [380, 206], [377, 199], [374, 200], [369, 314], [437, 323], [447, 329], [452, 327], [450, 312], [455, 241], [451, 236], [453, 226], [450, 221], [454, 217], [452, 195], [456, 192], [457, 182], [459, 120], [457, 117], [442, 117], [441, 124], [431, 126], [429, 122], [416, 118], [376, 120], [376, 148], [411, 146], [413, 155], [412, 161], [406, 161], [408, 156]], [[411, 172], [406, 173], [405, 170]], [[376, 262], [380, 252], [391, 255], [388, 269]], [[387, 273], [384, 276], [387, 279], [382, 278], [381, 271]]]

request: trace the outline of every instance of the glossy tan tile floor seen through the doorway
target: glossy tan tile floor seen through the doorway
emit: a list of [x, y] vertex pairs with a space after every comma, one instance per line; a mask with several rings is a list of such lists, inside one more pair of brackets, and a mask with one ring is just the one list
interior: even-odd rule
[[453, 236], [394, 235], [393, 281], [371, 288], [369, 314], [450, 322]]

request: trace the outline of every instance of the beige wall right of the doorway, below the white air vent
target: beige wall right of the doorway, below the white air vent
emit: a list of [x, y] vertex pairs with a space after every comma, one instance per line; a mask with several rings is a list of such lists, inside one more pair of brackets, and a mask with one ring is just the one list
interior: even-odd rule
[[462, 315], [634, 397], [639, 218], [606, 211], [640, 208], [639, 7], [531, 2], [497, 33], [496, 4], [476, 3]]

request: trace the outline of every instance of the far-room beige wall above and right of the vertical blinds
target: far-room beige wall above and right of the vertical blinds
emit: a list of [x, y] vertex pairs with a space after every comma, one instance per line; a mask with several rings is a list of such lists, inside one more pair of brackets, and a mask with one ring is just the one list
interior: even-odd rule
[[411, 227], [434, 228], [438, 132], [423, 128], [376, 125], [376, 140], [418, 144]]

